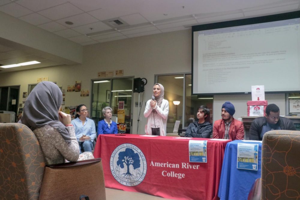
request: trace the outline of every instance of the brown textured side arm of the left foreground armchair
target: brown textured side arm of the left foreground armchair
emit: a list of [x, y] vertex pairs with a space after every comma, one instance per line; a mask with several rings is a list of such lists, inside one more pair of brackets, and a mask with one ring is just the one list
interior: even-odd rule
[[45, 167], [39, 199], [78, 199], [82, 194], [106, 199], [101, 158]]

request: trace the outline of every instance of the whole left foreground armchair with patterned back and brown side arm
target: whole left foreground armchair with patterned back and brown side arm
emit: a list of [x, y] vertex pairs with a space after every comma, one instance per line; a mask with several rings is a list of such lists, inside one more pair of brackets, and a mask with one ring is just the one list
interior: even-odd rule
[[100, 159], [46, 166], [25, 125], [0, 123], [0, 199], [106, 199]]

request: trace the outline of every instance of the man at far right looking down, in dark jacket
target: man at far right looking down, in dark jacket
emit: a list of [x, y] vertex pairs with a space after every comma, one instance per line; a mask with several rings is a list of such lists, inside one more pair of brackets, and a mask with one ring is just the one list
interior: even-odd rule
[[265, 116], [253, 120], [250, 126], [250, 140], [262, 140], [263, 135], [270, 130], [296, 130], [292, 120], [279, 116], [279, 107], [274, 103], [265, 109]]

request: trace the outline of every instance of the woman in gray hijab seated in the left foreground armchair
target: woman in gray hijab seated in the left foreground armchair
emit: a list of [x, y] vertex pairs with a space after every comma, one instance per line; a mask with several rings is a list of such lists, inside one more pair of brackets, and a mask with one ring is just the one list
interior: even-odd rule
[[47, 165], [94, 158], [91, 152], [79, 156], [71, 115], [60, 111], [61, 103], [58, 86], [53, 82], [40, 82], [28, 95], [19, 123], [33, 130]]

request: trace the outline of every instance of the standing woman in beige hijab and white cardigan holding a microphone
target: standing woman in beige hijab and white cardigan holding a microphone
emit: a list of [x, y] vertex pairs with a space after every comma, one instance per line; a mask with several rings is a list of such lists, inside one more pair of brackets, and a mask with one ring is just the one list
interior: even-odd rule
[[164, 99], [164, 86], [156, 83], [153, 86], [152, 99], [146, 103], [144, 116], [148, 118], [145, 126], [146, 135], [166, 136], [169, 102]]

